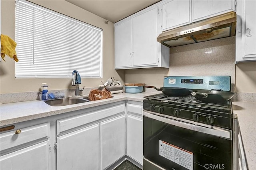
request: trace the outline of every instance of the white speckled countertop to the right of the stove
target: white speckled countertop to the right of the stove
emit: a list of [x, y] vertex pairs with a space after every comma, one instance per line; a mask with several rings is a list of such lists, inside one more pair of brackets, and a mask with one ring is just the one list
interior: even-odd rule
[[233, 114], [238, 117], [249, 170], [256, 170], [256, 103], [232, 102]]

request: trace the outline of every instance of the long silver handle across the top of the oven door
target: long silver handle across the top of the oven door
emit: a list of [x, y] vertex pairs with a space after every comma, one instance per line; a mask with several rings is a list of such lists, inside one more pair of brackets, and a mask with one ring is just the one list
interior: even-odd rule
[[175, 119], [163, 117], [163, 116], [166, 116], [166, 115], [162, 115], [162, 114], [159, 114], [159, 113], [158, 113], [158, 115], [154, 115], [153, 113], [149, 113], [149, 111], [143, 111], [143, 116], [151, 118], [151, 119], [155, 119], [157, 121], [161, 121], [161, 122], [164, 122], [164, 123], [168, 123], [170, 125], [174, 125], [174, 126], [177, 126], [177, 127], [186, 128], [186, 129], [189, 129], [189, 130], [194, 130], [194, 131], [197, 131], [197, 132], [211, 134], [211, 135], [214, 135], [214, 136], [219, 136], [219, 137], [222, 137], [222, 138], [232, 140], [232, 131], [224, 129], [224, 128], [218, 128], [218, 127], [212, 127], [212, 126], [210, 126], [210, 128], [202, 127], [202, 126], [192, 124], [191, 123], [192, 121], [185, 122], [187, 120], [184, 120], [184, 119], [182, 119], [182, 121], [178, 121], [178, 120], [175, 120]]

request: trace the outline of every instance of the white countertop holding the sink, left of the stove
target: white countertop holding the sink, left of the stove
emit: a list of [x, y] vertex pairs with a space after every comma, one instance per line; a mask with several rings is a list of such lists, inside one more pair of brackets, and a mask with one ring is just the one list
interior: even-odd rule
[[[23, 101], [16, 103], [0, 104], [0, 126], [9, 125], [13, 123], [29, 121], [42, 117], [48, 117], [52, 115], [58, 115], [70, 111], [76, 111], [80, 109], [86, 109], [89, 107], [95, 107], [99, 105], [105, 105], [108, 103], [132, 100], [140, 101], [144, 100], [144, 96], [154, 95], [157, 93], [143, 92], [143, 93], [118, 93], [113, 94], [111, 99], [103, 99], [98, 101], [90, 101], [86, 103], [78, 103], [67, 106], [50, 106], [44, 101]], [[88, 95], [87, 95], [88, 96]], [[81, 97], [81, 96], [80, 96]]]

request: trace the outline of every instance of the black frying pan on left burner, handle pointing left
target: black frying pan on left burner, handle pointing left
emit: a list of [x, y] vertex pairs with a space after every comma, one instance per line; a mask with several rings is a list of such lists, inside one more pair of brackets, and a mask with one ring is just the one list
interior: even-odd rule
[[167, 96], [181, 96], [181, 95], [190, 95], [190, 89], [182, 87], [161, 87], [158, 89], [155, 86], [145, 86], [147, 88], [154, 88], [157, 91], [162, 91]]

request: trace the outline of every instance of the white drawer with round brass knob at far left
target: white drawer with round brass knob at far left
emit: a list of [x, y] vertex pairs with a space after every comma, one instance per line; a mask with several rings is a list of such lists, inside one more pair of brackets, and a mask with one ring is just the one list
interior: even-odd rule
[[38, 139], [46, 139], [50, 137], [50, 123], [21, 128], [19, 134], [15, 134], [14, 129], [10, 132], [2, 133], [0, 136], [1, 150], [12, 148], [18, 145], [26, 144]]

